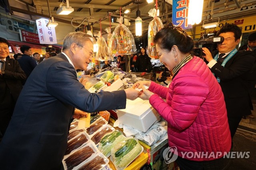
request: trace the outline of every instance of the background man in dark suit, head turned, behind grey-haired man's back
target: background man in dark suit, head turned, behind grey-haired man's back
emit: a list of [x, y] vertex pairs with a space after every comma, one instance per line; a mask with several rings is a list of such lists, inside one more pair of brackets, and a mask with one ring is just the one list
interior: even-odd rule
[[37, 63], [36, 60], [32, 57], [33, 51], [31, 50], [30, 46], [22, 45], [20, 47], [20, 51], [23, 54], [22, 57], [18, 59], [18, 61], [20, 63], [20, 67], [23, 69], [28, 78], [33, 69], [36, 67]]

